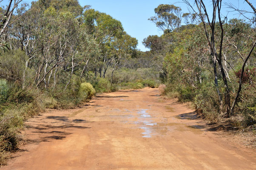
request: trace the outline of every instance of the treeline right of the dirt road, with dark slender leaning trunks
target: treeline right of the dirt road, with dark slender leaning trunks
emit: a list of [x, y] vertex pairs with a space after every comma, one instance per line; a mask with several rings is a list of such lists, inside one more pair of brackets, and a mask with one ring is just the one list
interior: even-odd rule
[[[163, 61], [164, 94], [191, 101], [211, 122], [234, 128], [256, 127], [256, 30], [255, 8], [250, 11], [213, 0], [187, 1], [191, 13], [168, 4], [155, 8], [149, 20], [163, 34], [148, 36], [143, 43]], [[243, 19], [223, 17], [224, 8]], [[184, 24], [182, 24], [184, 23]]]

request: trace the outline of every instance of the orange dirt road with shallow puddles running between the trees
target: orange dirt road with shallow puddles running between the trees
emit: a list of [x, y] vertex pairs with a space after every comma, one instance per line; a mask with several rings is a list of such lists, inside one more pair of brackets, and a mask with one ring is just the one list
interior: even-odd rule
[[102, 94], [26, 125], [29, 144], [3, 170], [256, 170], [255, 151], [154, 88]]

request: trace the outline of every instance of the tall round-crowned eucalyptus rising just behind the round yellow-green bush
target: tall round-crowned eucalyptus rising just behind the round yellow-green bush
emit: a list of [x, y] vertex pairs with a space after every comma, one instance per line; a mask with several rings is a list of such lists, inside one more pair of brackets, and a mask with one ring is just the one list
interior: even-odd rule
[[[88, 33], [94, 37], [100, 48], [100, 59], [95, 64], [94, 72], [101, 72], [103, 69], [103, 77], [109, 65], [114, 61], [114, 54], [111, 50], [111, 43], [121, 37], [123, 28], [120, 21], [115, 20], [108, 14], [88, 9], [83, 13], [84, 25]], [[97, 67], [97, 68], [96, 68]]]

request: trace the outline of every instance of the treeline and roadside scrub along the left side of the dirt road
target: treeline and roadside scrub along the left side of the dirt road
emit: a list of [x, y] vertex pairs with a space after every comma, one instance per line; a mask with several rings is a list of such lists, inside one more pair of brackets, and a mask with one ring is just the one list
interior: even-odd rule
[[95, 93], [155, 87], [151, 57], [120, 21], [77, 0], [9, 0], [0, 8], [0, 164], [30, 116]]

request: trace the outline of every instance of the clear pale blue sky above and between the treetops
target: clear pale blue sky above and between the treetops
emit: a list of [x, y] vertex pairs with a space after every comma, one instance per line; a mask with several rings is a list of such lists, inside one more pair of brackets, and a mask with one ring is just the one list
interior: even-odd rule
[[[23, 0], [23, 2], [26, 3], [30, 3], [31, 1], [32, 0]], [[188, 12], [188, 8], [184, 3], [177, 3], [180, 1], [181, 0], [79, 0], [81, 6], [91, 5], [91, 8], [105, 12], [121, 21], [125, 31], [132, 37], [137, 38], [139, 42], [138, 48], [142, 51], [148, 50], [142, 45], [142, 41], [145, 37], [162, 34], [162, 31], [148, 20], [148, 18], [155, 15], [154, 8], [159, 4], [174, 4], [175, 6], [181, 7], [182, 12]], [[205, 1], [208, 3], [211, 0]], [[255, 3], [255, 0], [250, 1], [251, 3]], [[1, 5], [6, 5], [8, 2], [9, 0], [3, 0]], [[223, 2], [232, 3], [235, 6], [239, 6], [239, 8], [251, 11], [247, 3], [244, 3], [244, 0], [223, 0]], [[208, 3], [208, 7], [210, 7], [210, 3]], [[222, 12], [227, 14], [227, 11], [230, 9], [224, 7]], [[231, 13], [228, 14], [228, 18], [233, 17], [239, 16]]]

